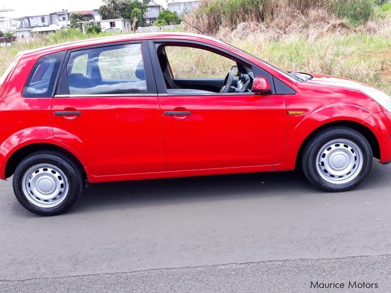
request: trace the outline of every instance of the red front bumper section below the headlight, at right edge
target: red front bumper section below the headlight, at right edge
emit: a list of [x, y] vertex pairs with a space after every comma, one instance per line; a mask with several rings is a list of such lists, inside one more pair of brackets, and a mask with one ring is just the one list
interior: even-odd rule
[[375, 112], [363, 123], [375, 135], [380, 149], [380, 163], [391, 163], [391, 113]]

